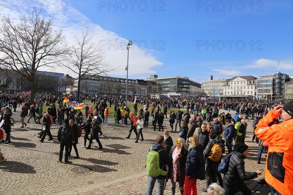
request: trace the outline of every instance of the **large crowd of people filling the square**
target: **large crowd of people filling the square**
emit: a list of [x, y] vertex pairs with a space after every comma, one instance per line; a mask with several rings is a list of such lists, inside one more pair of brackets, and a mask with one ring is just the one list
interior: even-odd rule
[[[75, 110], [63, 103], [63, 99], [63, 95], [37, 95], [36, 101], [30, 104], [30, 97], [27, 94], [2, 94], [0, 125], [6, 136], [0, 142], [11, 143], [11, 126], [15, 123], [13, 113], [17, 107], [21, 107], [21, 128], [30, 123], [32, 118], [35, 123], [42, 124], [39, 133], [41, 142], [46, 136], [48, 140], [52, 140], [50, 127], [54, 123], [59, 125], [59, 162], [63, 162], [65, 148], [64, 163], [71, 163], [68, 156], [71, 156], [72, 147], [76, 153], [75, 158], [79, 158], [76, 144], [82, 131], [83, 148], [91, 149], [95, 139], [99, 149], [103, 149], [99, 139], [99, 136], [103, 135], [101, 124], [109, 124], [109, 108], [113, 106], [113, 125], [123, 123], [126, 126], [130, 123], [126, 139], [130, 138], [133, 131], [135, 143], [138, 143], [139, 138], [144, 141], [143, 129], [149, 127], [149, 118], [153, 131], [162, 131], [162, 136], [156, 138], [156, 143], [150, 147], [147, 155], [147, 195], [152, 194], [156, 181], [158, 195], [163, 195], [165, 183], [169, 180], [173, 195], [176, 193], [176, 183], [179, 183], [182, 195], [196, 195], [198, 179], [206, 179], [206, 187], [202, 190], [210, 195], [234, 195], [237, 192], [251, 195], [251, 190], [244, 181], [253, 179], [263, 172], [245, 172], [244, 159], [249, 155], [249, 147], [245, 144], [247, 122], [252, 120], [252, 141], [255, 140], [259, 144], [257, 163], [261, 163], [262, 153], [268, 151], [266, 176], [260, 179], [258, 184], [267, 183], [271, 186], [272, 195], [293, 194], [293, 101], [83, 96], [82, 100], [91, 102], [91, 105], [85, 103], [83, 115], [81, 110]], [[76, 99], [70, 97], [70, 100]], [[133, 104], [133, 112], [126, 106], [126, 101]], [[43, 110], [43, 104], [49, 106], [48, 110]], [[219, 112], [220, 109], [227, 113]], [[230, 115], [231, 110], [236, 112], [234, 116]], [[27, 116], [29, 118], [26, 120]], [[170, 131], [163, 126], [165, 117], [168, 118]], [[283, 122], [280, 122], [280, 119]], [[174, 136], [174, 142], [171, 137], [173, 132], [179, 133], [176, 134], [178, 138]], [[229, 160], [223, 160], [224, 158]], [[5, 158], [0, 153], [0, 161], [3, 160]], [[223, 162], [228, 164], [222, 177], [218, 167]]]

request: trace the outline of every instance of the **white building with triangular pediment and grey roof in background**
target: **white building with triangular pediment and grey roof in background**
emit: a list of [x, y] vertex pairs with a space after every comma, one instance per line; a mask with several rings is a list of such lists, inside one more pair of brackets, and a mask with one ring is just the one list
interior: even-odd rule
[[223, 88], [223, 98], [255, 98], [256, 79], [252, 76], [227, 79]]

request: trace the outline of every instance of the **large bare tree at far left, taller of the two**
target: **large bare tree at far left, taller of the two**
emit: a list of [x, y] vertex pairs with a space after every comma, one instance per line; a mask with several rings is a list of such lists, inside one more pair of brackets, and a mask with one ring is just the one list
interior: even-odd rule
[[53, 18], [45, 19], [34, 10], [15, 23], [10, 17], [1, 17], [0, 64], [29, 80], [31, 101], [36, 94], [36, 72], [41, 67], [53, 67], [67, 54], [62, 30], [53, 31]]

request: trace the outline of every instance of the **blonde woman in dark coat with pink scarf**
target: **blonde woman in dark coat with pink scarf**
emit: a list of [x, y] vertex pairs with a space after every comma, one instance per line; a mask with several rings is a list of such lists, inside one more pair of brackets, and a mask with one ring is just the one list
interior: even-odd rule
[[[171, 179], [172, 195], [175, 195], [176, 182], [179, 183], [180, 192], [183, 195], [185, 179], [186, 158], [188, 146], [183, 138], [178, 138], [170, 151], [168, 179]], [[166, 181], [166, 182], [167, 182]]]

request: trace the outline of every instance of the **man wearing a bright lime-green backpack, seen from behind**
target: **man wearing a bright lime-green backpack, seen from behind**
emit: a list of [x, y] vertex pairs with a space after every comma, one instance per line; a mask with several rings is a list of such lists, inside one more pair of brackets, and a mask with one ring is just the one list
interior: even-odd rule
[[164, 193], [164, 184], [167, 177], [166, 165], [169, 164], [169, 155], [165, 147], [164, 137], [158, 136], [156, 143], [149, 148], [146, 158], [146, 171], [148, 175], [146, 195], [152, 194], [156, 180], [158, 180], [158, 195], [163, 195]]

